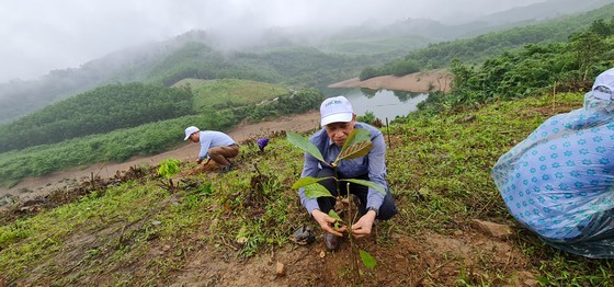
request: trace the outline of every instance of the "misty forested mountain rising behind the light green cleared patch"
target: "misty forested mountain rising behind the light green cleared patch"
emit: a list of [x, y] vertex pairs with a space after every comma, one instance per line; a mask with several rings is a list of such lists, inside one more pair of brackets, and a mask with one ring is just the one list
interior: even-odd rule
[[187, 43], [154, 66], [146, 81], [172, 85], [184, 78], [229, 78], [323, 89], [330, 82], [354, 76], [364, 65], [376, 62], [382, 60], [300, 46], [224, 55], [205, 44]]

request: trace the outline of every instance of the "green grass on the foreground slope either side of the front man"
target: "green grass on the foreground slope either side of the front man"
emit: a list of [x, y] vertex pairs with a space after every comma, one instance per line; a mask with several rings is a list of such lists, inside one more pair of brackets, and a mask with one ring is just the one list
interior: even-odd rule
[[[580, 107], [582, 95], [553, 100], [499, 102], [395, 122], [386, 139], [391, 142], [388, 181], [399, 214], [382, 229], [401, 237], [452, 236], [474, 218], [514, 226], [490, 169], [547, 117]], [[284, 138], [272, 138], [264, 153], [254, 144], [243, 145], [238, 161], [238, 171], [185, 177], [177, 193], [161, 187], [161, 179], [133, 181], [2, 226], [2, 276], [25, 285], [167, 285], [198, 250], [231, 246], [241, 259], [289, 244], [296, 228], [312, 223], [291, 188], [303, 152]], [[184, 163], [182, 169], [194, 167]], [[522, 268], [543, 285], [612, 285], [613, 261], [570, 255], [518, 230], [512, 244], [528, 257]], [[394, 248], [391, 240], [378, 244]], [[515, 276], [513, 269], [482, 264], [463, 267], [457, 283], [471, 284], [474, 268], [480, 268], [479, 284], [487, 286]]]

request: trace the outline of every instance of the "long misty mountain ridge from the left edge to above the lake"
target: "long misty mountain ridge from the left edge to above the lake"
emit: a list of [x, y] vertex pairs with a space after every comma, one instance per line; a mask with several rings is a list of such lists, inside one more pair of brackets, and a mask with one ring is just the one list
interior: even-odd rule
[[[287, 83], [297, 89], [307, 85], [322, 88], [332, 81], [353, 77], [365, 65], [384, 62], [383, 57], [333, 55], [307, 47], [285, 47], [263, 54], [225, 54], [213, 49], [207, 41], [205, 32], [192, 31], [175, 39], [110, 55], [79, 69], [53, 71], [38, 81], [2, 84], [0, 123], [69, 94], [113, 82], [141, 81], [169, 87], [184, 78], [234, 78]], [[286, 61], [283, 67], [280, 67], [281, 59]]]

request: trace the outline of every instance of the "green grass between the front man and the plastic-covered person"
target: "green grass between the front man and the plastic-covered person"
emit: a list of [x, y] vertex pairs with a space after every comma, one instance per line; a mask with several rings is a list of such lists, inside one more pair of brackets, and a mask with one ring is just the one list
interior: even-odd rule
[[[557, 101], [578, 106], [581, 99], [565, 94]], [[414, 115], [391, 125], [398, 141], [388, 152], [395, 159], [388, 179], [410, 199], [407, 220], [440, 232], [456, 229], [464, 218], [509, 220], [490, 169], [552, 115], [550, 105], [549, 97], [532, 97], [457, 114]]]

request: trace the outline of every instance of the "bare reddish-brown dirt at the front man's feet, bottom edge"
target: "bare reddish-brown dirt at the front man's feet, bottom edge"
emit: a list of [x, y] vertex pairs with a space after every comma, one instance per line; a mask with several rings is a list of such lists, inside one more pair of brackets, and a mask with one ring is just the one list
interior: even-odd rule
[[172, 286], [455, 286], [462, 277], [468, 284], [491, 282], [480, 267], [485, 263], [492, 269], [512, 271], [500, 286], [538, 285], [531, 273], [513, 272], [528, 262], [521, 250], [476, 230], [452, 237], [394, 234], [386, 245], [372, 238], [359, 244], [377, 259], [373, 271], [359, 263], [360, 275], [352, 272], [348, 241], [336, 252], [326, 252], [318, 239], [310, 245], [291, 245], [246, 261], [228, 260], [231, 251], [225, 254], [204, 248], [178, 272]]

